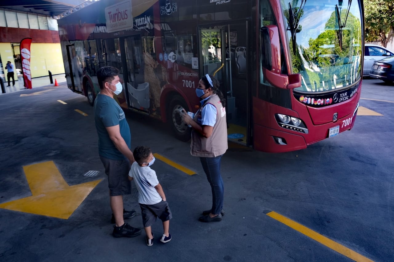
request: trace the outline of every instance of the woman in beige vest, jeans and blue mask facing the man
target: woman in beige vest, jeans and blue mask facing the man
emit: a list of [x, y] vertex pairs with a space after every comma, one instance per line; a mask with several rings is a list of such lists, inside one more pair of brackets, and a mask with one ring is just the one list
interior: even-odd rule
[[219, 90], [219, 81], [208, 74], [199, 81], [196, 94], [202, 99], [201, 108], [193, 119], [183, 111], [183, 119], [193, 128], [190, 153], [200, 158], [212, 189], [212, 208], [204, 211], [199, 221], [218, 222], [224, 215], [220, 162], [227, 150], [225, 99]]

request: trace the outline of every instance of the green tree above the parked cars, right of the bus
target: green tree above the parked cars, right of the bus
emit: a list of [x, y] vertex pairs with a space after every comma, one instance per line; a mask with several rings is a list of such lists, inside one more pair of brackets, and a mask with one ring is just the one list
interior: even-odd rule
[[364, 1], [365, 40], [380, 41], [386, 47], [394, 34], [394, 1]]

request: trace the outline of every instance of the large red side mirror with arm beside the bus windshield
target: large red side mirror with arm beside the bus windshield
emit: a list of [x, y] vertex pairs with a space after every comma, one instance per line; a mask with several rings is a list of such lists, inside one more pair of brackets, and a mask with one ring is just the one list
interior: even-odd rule
[[281, 74], [281, 42], [275, 25], [260, 28], [261, 65], [264, 77], [271, 85], [292, 89], [301, 86], [301, 74]]

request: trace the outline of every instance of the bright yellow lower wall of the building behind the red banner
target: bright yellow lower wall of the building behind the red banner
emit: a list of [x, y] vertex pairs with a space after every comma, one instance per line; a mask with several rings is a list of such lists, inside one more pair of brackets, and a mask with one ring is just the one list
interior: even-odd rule
[[[19, 52], [18, 52], [19, 53]], [[52, 75], [63, 74], [63, 56], [60, 44], [32, 43], [30, 46], [30, 70], [32, 77], [48, 76], [48, 70]], [[10, 43], [0, 43], [0, 55], [3, 63], [3, 70], [7, 75], [7, 61], [13, 62], [13, 53]], [[15, 77], [17, 80], [17, 77]]]

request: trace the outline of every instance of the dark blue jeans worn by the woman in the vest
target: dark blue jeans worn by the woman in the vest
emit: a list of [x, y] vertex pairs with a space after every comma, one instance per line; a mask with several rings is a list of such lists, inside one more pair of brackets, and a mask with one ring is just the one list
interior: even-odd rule
[[206, 178], [212, 189], [212, 209], [214, 215], [220, 214], [223, 208], [223, 180], [220, 175], [220, 161], [223, 155], [217, 157], [200, 157]]

